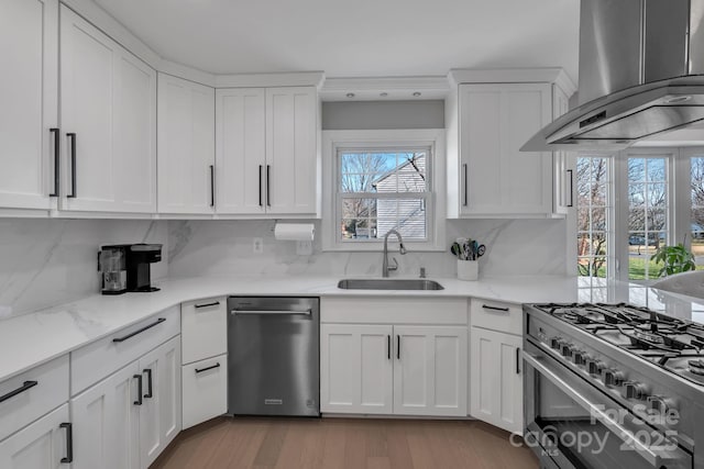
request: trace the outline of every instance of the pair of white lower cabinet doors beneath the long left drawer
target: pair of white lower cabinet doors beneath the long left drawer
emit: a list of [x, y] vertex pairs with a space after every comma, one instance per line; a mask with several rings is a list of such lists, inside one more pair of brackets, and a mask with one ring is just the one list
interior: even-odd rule
[[147, 468], [180, 431], [180, 337], [70, 401], [76, 468]]

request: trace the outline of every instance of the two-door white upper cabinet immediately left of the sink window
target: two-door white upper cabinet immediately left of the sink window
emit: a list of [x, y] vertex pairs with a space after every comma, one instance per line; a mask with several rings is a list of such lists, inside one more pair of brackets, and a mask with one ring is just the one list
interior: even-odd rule
[[217, 90], [217, 213], [316, 216], [318, 127], [315, 87]]

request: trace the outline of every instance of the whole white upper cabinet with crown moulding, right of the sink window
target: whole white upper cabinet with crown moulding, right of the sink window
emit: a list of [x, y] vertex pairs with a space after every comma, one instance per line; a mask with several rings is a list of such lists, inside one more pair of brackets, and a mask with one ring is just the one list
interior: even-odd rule
[[520, 147], [552, 121], [553, 81], [563, 75], [556, 69], [451, 74], [449, 217], [552, 215], [552, 153]]

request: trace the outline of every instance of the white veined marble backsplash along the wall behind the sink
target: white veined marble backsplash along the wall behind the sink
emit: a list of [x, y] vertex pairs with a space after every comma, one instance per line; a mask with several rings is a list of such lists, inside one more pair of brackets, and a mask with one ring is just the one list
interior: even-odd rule
[[[320, 222], [316, 232], [320, 233]], [[450, 220], [449, 241], [472, 236], [487, 247], [480, 259], [480, 276], [565, 275], [566, 236], [564, 220]], [[264, 241], [264, 252], [254, 254], [253, 238]], [[450, 243], [448, 243], [448, 246]], [[294, 242], [274, 239], [274, 221], [170, 221], [168, 222], [168, 273], [199, 275], [331, 275], [380, 276], [381, 247], [372, 253], [321, 252], [320, 236], [314, 254], [296, 255]], [[428, 277], [457, 273], [455, 257], [446, 253], [394, 255], [395, 275], [417, 276], [425, 267]]]

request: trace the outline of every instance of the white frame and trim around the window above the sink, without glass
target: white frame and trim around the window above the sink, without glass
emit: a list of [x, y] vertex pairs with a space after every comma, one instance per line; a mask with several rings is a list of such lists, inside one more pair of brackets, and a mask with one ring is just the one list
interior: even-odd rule
[[[340, 196], [340, 150], [383, 148], [425, 149], [429, 148], [426, 161], [428, 192], [419, 192], [427, 198], [427, 241], [404, 239], [409, 252], [446, 250], [446, 180], [444, 180], [444, 130], [366, 130], [366, 131], [323, 131], [322, 132], [322, 250], [378, 252], [384, 238], [343, 241], [339, 236], [341, 221]], [[361, 193], [360, 193], [361, 194]], [[413, 192], [408, 196], [413, 197]], [[402, 194], [403, 196], [403, 194]], [[398, 197], [394, 194], [394, 197]], [[396, 238], [392, 237], [394, 248]], [[391, 243], [391, 242], [389, 242]]]

